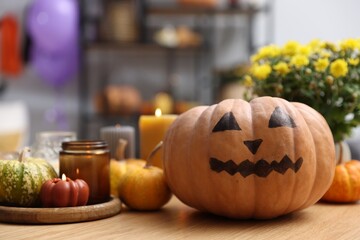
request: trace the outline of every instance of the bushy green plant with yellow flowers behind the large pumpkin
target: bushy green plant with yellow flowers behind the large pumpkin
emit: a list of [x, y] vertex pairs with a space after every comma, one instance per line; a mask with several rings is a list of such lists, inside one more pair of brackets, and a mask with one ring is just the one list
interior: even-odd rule
[[260, 48], [242, 80], [252, 96], [277, 96], [313, 107], [339, 143], [360, 123], [359, 61], [360, 39], [289, 41]]

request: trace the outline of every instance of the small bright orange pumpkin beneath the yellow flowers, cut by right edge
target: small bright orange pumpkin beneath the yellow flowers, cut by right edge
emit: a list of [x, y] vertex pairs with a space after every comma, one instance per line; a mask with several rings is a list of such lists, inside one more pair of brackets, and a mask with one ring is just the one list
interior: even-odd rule
[[360, 200], [359, 161], [351, 160], [336, 166], [334, 180], [322, 200], [338, 203]]

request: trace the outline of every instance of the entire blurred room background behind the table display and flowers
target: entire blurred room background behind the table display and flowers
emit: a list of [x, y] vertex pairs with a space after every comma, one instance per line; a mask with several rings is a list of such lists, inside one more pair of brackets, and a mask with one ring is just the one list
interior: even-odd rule
[[0, 147], [42, 131], [98, 138], [156, 107], [180, 114], [242, 97], [229, 73], [259, 47], [358, 38], [358, 9], [356, 0], [0, 0]]

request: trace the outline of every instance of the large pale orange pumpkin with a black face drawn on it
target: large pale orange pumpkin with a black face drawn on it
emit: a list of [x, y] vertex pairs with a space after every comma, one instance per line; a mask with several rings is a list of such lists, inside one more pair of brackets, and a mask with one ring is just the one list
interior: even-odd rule
[[334, 170], [325, 119], [280, 98], [195, 107], [175, 120], [164, 139], [164, 173], [174, 195], [230, 218], [268, 219], [306, 208], [324, 195]]

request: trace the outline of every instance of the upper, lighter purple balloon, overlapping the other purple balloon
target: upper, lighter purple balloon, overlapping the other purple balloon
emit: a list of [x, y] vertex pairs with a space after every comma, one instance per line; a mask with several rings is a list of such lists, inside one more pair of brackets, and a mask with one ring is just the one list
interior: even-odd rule
[[34, 44], [48, 52], [62, 52], [79, 34], [76, 0], [35, 0], [29, 8], [27, 28]]

